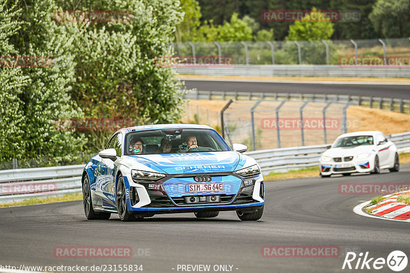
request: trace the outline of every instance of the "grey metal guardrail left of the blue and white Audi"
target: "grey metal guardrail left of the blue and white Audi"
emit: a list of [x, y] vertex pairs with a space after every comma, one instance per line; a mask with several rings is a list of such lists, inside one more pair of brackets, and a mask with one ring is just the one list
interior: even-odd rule
[[0, 171], [0, 203], [81, 192], [84, 165]]

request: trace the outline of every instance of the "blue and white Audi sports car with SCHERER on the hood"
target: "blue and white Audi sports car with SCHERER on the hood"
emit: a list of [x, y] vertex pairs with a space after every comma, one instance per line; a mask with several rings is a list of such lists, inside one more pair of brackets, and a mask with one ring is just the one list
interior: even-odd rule
[[264, 181], [256, 161], [232, 150], [209, 126], [146, 125], [114, 133], [83, 172], [88, 219], [122, 221], [162, 213], [192, 212], [198, 218], [236, 211], [240, 220], [263, 214]]

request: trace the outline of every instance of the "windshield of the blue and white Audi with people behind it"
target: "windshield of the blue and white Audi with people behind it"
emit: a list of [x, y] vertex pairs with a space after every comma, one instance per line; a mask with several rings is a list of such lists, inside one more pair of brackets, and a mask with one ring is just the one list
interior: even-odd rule
[[163, 154], [230, 151], [220, 135], [210, 129], [160, 129], [130, 132], [125, 154]]

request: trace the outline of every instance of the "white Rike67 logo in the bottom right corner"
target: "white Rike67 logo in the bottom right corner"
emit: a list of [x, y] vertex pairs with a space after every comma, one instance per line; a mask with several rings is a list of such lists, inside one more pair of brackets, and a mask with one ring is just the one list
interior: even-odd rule
[[387, 264], [388, 268], [393, 271], [401, 271], [407, 266], [407, 256], [402, 251], [393, 251], [387, 259], [384, 258], [372, 258], [366, 252], [357, 255], [354, 252], [347, 252], [344, 258], [342, 269], [381, 269]]

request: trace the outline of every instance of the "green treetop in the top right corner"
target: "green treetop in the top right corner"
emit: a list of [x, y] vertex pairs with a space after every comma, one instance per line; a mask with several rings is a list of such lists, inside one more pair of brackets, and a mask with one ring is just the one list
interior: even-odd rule
[[377, 0], [369, 18], [384, 37], [408, 37], [409, 12], [410, 0]]

